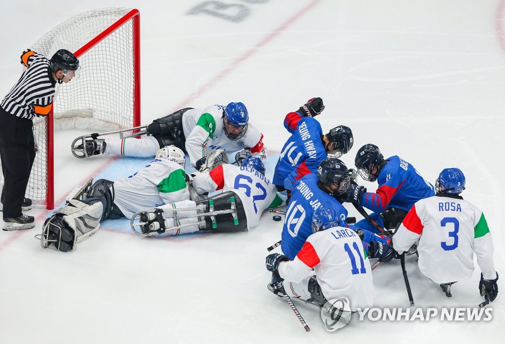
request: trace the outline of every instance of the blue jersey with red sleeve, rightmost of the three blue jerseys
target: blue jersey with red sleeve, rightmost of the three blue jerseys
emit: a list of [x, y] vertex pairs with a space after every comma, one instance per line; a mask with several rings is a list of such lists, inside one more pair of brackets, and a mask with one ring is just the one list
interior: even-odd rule
[[375, 193], [365, 192], [360, 205], [374, 212], [386, 208], [409, 211], [415, 202], [435, 195], [433, 185], [426, 181], [407, 161], [392, 156], [377, 178], [379, 187]]

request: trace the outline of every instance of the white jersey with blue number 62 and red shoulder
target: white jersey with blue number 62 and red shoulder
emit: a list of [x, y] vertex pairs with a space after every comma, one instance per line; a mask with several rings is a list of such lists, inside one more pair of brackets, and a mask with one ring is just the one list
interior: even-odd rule
[[193, 179], [193, 188], [198, 194], [215, 190], [235, 192], [244, 206], [248, 229], [258, 225], [261, 214], [274, 199], [280, 203], [275, 185], [267, 177], [256, 169], [235, 165], [220, 165], [197, 175]]

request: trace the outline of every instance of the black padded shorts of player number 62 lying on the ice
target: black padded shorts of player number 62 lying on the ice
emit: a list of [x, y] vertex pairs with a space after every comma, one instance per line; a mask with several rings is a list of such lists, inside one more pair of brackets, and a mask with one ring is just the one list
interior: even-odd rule
[[[212, 199], [214, 201], [214, 211], [219, 210], [229, 210], [231, 209], [231, 197], [235, 199], [235, 209], [236, 209], [236, 217], [238, 220], [238, 224], [235, 224], [235, 219], [232, 214], [221, 214], [216, 215], [216, 225], [217, 227], [213, 227], [213, 221], [211, 217], [205, 216], [205, 228], [200, 228], [201, 231], [216, 231], [216, 232], [247, 232], [247, 218], [245, 216], [244, 206], [240, 197], [233, 191], [226, 191], [220, 193], [218, 195], [212, 196], [211, 198], [200, 200], [196, 202], [196, 205], [200, 205], [202, 207], [204, 213], [210, 212], [209, 200]], [[205, 215], [205, 214], [202, 214]]]

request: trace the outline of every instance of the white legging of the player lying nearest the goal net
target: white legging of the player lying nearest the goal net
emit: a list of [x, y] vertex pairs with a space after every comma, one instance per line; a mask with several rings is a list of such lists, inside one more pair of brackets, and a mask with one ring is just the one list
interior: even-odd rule
[[160, 150], [160, 144], [154, 136], [142, 136], [140, 139], [106, 139], [105, 153], [128, 157], [154, 157]]

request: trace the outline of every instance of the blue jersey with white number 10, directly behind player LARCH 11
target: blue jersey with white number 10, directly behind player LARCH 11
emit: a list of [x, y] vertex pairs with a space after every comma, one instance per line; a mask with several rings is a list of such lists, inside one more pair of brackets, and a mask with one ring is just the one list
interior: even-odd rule
[[312, 234], [312, 215], [321, 204], [329, 205], [338, 214], [338, 226], [347, 226], [347, 211], [332, 195], [318, 186], [314, 173], [302, 177], [294, 184], [282, 228], [282, 252], [293, 260]]

